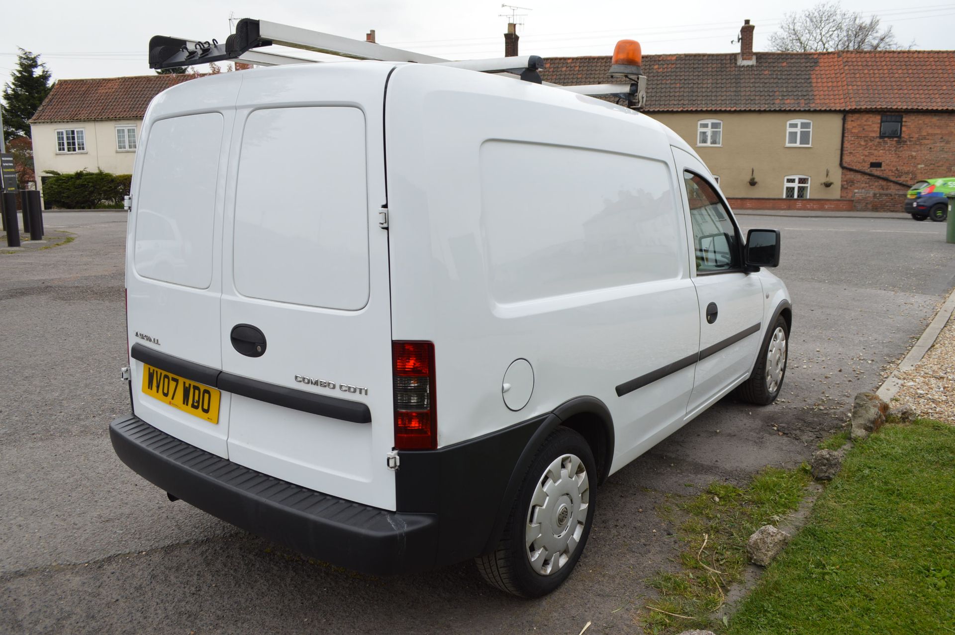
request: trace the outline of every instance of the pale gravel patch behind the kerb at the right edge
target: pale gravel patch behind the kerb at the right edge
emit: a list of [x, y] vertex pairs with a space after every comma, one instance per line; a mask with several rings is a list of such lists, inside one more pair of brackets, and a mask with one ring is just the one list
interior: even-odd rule
[[955, 425], [955, 314], [922, 361], [898, 373], [902, 388], [893, 407], [908, 404], [921, 416]]

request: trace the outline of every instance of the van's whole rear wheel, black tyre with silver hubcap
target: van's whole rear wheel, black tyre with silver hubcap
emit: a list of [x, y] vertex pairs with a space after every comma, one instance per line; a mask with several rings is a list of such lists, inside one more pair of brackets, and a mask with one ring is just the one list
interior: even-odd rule
[[596, 489], [590, 446], [573, 430], [558, 428], [531, 461], [497, 547], [475, 559], [484, 580], [523, 598], [560, 586], [584, 551]]

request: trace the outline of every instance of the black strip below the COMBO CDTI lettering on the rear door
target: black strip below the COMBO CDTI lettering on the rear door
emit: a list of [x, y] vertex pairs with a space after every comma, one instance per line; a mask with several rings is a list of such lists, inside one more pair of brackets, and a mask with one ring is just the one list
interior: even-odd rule
[[285, 386], [276, 386], [234, 375], [231, 372], [223, 372], [219, 375], [218, 388], [303, 413], [321, 414], [353, 423], [371, 423], [371, 410], [359, 401], [296, 391]]

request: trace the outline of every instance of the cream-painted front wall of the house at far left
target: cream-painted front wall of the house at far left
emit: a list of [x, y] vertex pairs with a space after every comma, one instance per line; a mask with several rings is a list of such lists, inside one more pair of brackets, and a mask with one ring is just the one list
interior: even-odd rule
[[[136, 151], [117, 150], [117, 126], [136, 126], [137, 144], [142, 130], [142, 119], [107, 119], [103, 121], [72, 121], [64, 123], [34, 123], [30, 126], [33, 139], [33, 170], [36, 187], [42, 191], [40, 177], [44, 170], [76, 172], [89, 170], [132, 174]], [[86, 133], [86, 152], [61, 153], [56, 151], [56, 131], [82, 128]]]

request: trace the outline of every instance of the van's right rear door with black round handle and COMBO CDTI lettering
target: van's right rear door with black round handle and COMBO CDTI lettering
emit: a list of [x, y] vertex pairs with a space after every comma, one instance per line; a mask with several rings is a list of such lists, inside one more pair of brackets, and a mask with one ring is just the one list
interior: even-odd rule
[[383, 116], [392, 66], [244, 72], [220, 338], [229, 458], [394, 509]]

